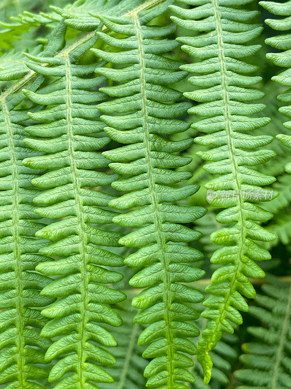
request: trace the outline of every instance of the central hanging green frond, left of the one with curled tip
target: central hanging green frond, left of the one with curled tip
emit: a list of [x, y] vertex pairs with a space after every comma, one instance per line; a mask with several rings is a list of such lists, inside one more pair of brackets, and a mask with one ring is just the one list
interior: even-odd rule
[[99, 17], [108, 29], [126, 37], [117, 39], [98, 33], [100, 39], [120, 51], [92, 50], [121, 65], [118, 69], [97, 68], [98, 74], [120, 82], [100, 89], [113, 100], [99, 104], [98, 109], [104, 112], [101, 119], [108, 126], [108, 136], [127, 143], [103, 154], [114, 161], [110, 164], [113, 170], [126, 176], [114, 181], [113, 188], [128, 192], [109, 205], [120, 210], [137, 207], [115, 216], [113, 221], [138, 227], [119, 242], [139, 248], [125, 263], [144, 267], [132, 277], [130, 285], [146, 288], [132, 301], [141, 309], [134, 321], [147, 325], [138, 344], [149, 344], [143, 355], [153, 358], [145, 370], [146, 386], [182, 389], [186, 387], [179, 381], [194, 381], [187, 370], [192, 359], [183, 353], [195, 353], [195, 345], [188, 338], [198, 334], [188, 322], [197, 318], [197, 312], [186, 303], [203, 299], [200, 292], [182, 283], [200, 279], [204, 271], [187, 264], [200, 260], [202, 254], [179, 244], [197, 239], [200, 233], [179, 223], [193, 222], [205, 214], [205, 209], [173, 204], [193, 195], [198, 186], [176, 187], [191, 174], [171, 170], [191, 161], [177, 153], [189, 147], [192, 140], [172, 142], [164, 137], [187, 129], [188, 124], [175, 117], [189, 108], [189, 103], [180, 101], [182, 94], [167, 86], [186, 73], [178, 71], [179, 62], [161, 55], [177, 47], [177, 42], [164, 37], [175, 26], [146, 25], [167, 5], [149, 13], [131, 13], [128, 18]]

